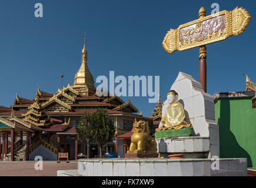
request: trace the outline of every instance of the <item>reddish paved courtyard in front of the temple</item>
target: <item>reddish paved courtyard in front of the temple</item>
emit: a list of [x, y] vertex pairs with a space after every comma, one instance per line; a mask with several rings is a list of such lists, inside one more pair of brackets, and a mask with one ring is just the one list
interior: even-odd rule
[[35, 163], [35, 161], [0, 161], [0, 176], [57, 176], [57, 170], [77, 169], [77, 161], [70, 161], [69, 163], [44, 161], [42, 170], [35, 170]]

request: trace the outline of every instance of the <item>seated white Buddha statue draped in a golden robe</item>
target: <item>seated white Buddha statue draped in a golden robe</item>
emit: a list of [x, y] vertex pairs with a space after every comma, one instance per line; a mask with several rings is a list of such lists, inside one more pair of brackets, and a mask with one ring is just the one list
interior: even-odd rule
[[178, 93], [175, 90], [170, 90], [162, 107], [162, 119], [158, 130], [182, 129], [192, 126], [185, 122], [185, 110], [177, 100]]

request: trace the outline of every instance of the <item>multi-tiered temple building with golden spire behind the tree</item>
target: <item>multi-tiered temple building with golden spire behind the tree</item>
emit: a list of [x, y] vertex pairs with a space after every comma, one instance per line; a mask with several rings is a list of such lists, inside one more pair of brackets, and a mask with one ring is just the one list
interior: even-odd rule
[[[75, 126], [80, 117], [106, 109], [116, 127], [115, 136], [131, 132], [135, 120], [145, 120], [152, 126], [149, 117], [143, 117], [131, 100], [124, 102], [118, 96], [96, 95], [94, 78], [88, 68], [87, 48], [82, 49], [81, 66], [75, 74], [74, 85], [58, 89], [51, 94], [37, 89], [35, 99], [16, 95], [10, 108], [0, 106], [0, 153], [2, 160], [56, 160], [58, 153], [67, 152], [69, 159], [78, 159], [79, 153], [87, 154], [87, 143], [78, 140]], [[11, 142], [10, 142], [11, 141]], [[116, 157], [124, 155], [122, 140], [113, 140], [104, 145]], [[97, 145], [89, 145], [89, 157], [99, 155]]]

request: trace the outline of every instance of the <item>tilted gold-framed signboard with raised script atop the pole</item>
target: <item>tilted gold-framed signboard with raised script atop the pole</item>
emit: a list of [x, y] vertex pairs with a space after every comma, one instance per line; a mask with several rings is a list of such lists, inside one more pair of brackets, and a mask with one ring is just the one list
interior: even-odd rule
[[173, 53], [223, 41], [244, 32], [250, 19], [250, 14], [243, 8], [221, 11], [171, 29], [162, 46], [168, 53]]

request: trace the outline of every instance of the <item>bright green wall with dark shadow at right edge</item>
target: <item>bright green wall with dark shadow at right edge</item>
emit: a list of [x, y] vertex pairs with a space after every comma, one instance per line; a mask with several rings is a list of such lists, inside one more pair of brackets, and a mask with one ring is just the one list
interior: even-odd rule
[[246, 157], [256, 167], [256, 109], [250, 98], [220, 98], [215, 102], [220, 129], [220, 157]]

